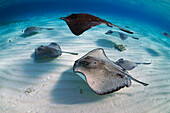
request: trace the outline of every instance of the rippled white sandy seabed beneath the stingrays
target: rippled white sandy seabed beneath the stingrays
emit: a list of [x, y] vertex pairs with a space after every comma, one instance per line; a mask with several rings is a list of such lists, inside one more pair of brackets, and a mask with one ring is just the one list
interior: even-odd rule
[[[110, 29], [105, 25], [96, 26], [77, 37], [64, 21], [56, 17], [35, 17], [30, 21], [4, 26], [4, 32], [11, 31], [1, 31], [1, 37], [7, 37], [12, 42], [6, 41], [8, 47], [0, 50], [0, 113], [170, 112], [170, 39], [161, 35], [160, 29], [144, 23], [108, 19], [122, 27], [130, 26], [140, 40], [128, 38], [122, 41], [105, 35]], [[54, 27], [55, 30], [43, 31], [27, 38], [19, 37], [21, 30], [29, 26]], [[127, 50], [119, 52], [109, 41], [124, 44]], [[62, 50], [78, 52], [79, 55], [63, 54], [51, 62], [34, 62], [31, 58], [34, 49], [51, 42], [57, 42]], [[90, 50], [101, 47], [114, 61], [119, 58], [151, 61], [151, 65], [140, 65], [130, 71], [133, 77], [149, 83], [149, 86], [132, 82], [131, 87], [118, 92], [96, 95], [72, 72], [72, 66], [75, 60]], [[27, 94], [25, 91], [28, 88], [35, 91]]]

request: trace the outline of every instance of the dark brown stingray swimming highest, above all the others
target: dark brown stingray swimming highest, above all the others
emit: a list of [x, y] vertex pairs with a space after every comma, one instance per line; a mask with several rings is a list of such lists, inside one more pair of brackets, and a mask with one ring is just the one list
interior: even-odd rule
[[99, 24], [106, 24], [109, 27], [117, 27], [120, 30], [133, 34], [133, 32], [126, 30], [124, 28], [121, 28], [117, 25], [114, 25], [104, 19], [101, 19], [99, 17], [87, 14], [87, 13], [79, 13], [79, 14], [71, 14], [67, 17], [61, 17], [62, 20], [64, 20], [67, 25], [69, 26], [71, 32], [74, 35], [81, 35], [83, 32], [85, 32], [86, 30], [97, 26]]

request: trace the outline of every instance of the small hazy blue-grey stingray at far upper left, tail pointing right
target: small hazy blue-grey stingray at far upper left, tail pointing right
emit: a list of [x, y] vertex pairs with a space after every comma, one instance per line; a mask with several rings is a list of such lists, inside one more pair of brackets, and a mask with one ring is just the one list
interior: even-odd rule
[[43, 28], [43, 27], [28, 27], [24, 30], [22, 34], [23, 37], [32, 36], [39, 33], [41, 30], [54, 30], [54, 28]]

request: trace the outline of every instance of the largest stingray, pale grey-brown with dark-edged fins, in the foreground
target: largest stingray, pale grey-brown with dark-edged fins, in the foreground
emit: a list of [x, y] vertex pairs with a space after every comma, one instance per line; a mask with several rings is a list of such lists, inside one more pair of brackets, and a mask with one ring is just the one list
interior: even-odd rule
[[133, 78], [122, 67], [108, 59], [102, 48], [94, 49], [75, 61], [73, 71], [99, 95], [118, 91], [125, 86], [130, 87], [131, 80], [144, 86], [148, 85]]

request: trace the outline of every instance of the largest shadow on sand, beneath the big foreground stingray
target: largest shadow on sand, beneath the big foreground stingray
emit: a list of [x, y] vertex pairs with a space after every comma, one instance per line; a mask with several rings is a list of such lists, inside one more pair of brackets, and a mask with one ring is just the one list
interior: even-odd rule
[[128, 93], [111, 93], [108, 95], [97, 95], [89, 85], [73, 72], [73, 69], [68, 69], [62, 73], [54, 89], [51, 92], [51, 101], [56, 104], [86, 104], [102, 101], [110, 96], [127, 95]]

